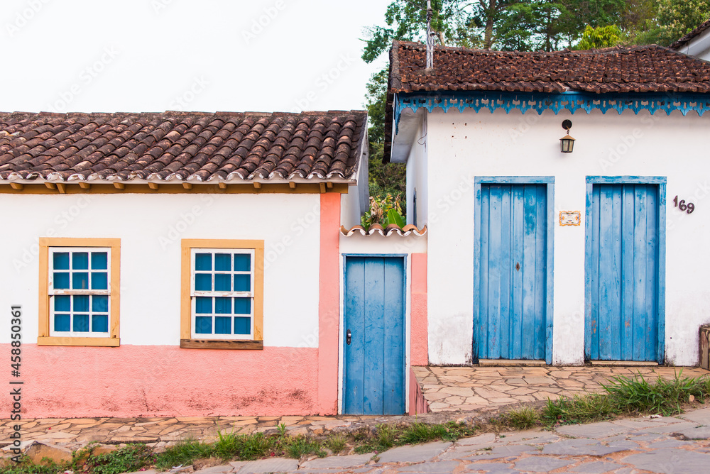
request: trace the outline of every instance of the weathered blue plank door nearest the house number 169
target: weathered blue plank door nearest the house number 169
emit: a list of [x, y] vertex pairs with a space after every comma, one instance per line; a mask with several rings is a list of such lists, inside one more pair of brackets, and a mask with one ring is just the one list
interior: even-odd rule
[[586, 358], [657, 360], [659, 185], [592, 184]]

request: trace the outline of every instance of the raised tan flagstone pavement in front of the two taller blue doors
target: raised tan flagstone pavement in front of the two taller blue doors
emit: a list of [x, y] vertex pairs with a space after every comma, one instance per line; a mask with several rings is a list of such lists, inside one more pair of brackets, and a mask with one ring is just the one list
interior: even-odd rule
[[[600, 392], [616, 375], [672, 378], [709, 375], [701, 368], [672, 367], [413, 367], [432, 412], [489, 412], [508, 404], [540, 402]], [[710, 468], [708, 469], [710, 473]]]

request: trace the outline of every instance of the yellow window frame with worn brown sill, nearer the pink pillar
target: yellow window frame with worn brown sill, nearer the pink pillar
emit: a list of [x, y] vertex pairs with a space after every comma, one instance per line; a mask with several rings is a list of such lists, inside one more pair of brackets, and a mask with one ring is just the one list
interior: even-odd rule
[[[180, 289], [180, 347], [190, 349], [263, 349], [263, 261], [264, 241], [226, 239], [182, 239]], [[192, 337], [192, 250], [253, 250], [253, 339]]]

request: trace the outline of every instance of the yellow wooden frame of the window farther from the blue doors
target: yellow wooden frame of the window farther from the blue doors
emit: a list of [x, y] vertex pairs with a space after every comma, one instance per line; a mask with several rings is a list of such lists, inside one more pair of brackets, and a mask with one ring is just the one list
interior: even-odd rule
[[[120, 238], [40, 238], [39, 239], [39, 334], [38, 346], [102, 346], [121, 345], [120, 289], [121, 289], [121, 239]], [[51, 336], [50, 333], [50, 290], [49, 255], [50, 248], [108, 248], [109, 258], [109, 336]]]

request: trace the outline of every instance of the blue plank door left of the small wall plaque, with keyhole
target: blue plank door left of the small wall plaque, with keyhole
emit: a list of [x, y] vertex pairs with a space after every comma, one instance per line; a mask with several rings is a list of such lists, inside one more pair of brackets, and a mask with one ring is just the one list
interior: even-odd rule
[[479, 359], [545, 359], [547, 184], [481, 184]]

